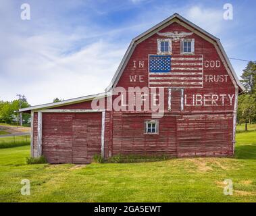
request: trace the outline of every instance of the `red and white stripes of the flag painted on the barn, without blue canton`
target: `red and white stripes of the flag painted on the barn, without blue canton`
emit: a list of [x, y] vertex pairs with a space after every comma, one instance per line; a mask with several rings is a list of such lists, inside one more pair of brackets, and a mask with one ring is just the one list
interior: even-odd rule
[[203, 55], [172, 55], [170, 72], [149, 72], [149, 87], [202, 88]]

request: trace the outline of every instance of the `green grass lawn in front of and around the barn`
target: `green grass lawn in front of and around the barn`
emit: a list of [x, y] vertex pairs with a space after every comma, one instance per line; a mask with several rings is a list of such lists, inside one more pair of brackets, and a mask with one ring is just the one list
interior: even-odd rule
[[[30, 147], [0, 149], [0, 202], [256, 202], [256, 131], [237, 134], [233, 158], [150, 163], [26, 165]], [[20, 194], [30, 180], [30, 196]], [[223, 194], [231, 179], [232, 196]]]

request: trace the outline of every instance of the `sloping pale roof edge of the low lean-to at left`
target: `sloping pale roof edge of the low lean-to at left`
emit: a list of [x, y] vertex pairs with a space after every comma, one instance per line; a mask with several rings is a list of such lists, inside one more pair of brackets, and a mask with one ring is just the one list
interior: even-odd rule
[[108, 97], [108, 96], [109, 96], [109, 92], [103, 92], [100, 94], [91, 94], [91, 95], [87, 95], [84, 97], [77, 97], [75, 99], [68, 99], [65, 101], [60, 101], [60, 102], [55, 102], [55, 103], [46, 103], [43, 105], [27, 107], [27, 108], [19, 109], [19, 111], [26, 112], [26, 111], [30, 111], [30, 110], [36, 110], [36, 109], [47, 109], [47, 108], [53, 108], [53, 107], [60, 107], [63, 105], [70, 105], [70, 104], [80, 103], [80, 102], [84, 102], [84, 101], [92, 101], [93, 99], [101, 99], [103, 97]]

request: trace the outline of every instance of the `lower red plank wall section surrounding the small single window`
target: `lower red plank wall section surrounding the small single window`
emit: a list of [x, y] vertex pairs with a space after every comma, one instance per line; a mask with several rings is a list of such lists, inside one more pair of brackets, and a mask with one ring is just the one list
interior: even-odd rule
[[144, 134], [150, 114], [113, 113], [112, 155], [176, 155], [176, 117], [159, 119], [159, 134]]

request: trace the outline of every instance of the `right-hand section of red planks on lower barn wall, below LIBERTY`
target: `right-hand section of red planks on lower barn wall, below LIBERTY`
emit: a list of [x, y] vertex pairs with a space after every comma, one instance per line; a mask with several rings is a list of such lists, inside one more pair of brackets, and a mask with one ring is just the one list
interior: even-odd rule
[[177, 117], [177, 155], [232, 155], [232, 113]]

